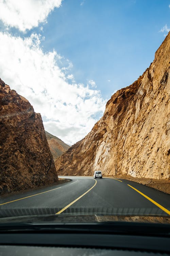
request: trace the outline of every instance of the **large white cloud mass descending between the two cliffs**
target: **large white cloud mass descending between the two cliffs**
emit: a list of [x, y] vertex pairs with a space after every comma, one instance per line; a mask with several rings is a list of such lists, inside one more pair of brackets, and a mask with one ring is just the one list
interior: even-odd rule
[[21, 38], [0, 32], [0, 77], [41, 113], [47, 131], [73, 144], [91, 130], [106, 102], [100, 91], [68, 83], [73, 76], [57, 65], [62, 57], [44, 53], [40, 42], [37, 34]]

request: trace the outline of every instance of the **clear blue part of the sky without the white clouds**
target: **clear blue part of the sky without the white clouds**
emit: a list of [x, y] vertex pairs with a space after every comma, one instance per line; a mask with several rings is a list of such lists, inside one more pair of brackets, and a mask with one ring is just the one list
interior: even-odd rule
[[[78, 83], [94, 80], [104, 98], [128, 86], [154, 59], [170, 27], [170, 1], [65, 0], [44, 26], [45, 51], [73, 63]], [[108, 82], [108, 80], [111, 80]]]

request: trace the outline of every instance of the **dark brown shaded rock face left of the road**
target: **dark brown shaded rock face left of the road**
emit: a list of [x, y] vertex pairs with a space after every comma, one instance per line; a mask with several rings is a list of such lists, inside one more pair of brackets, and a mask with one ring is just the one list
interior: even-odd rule
[[0, 79], [0, 193], [58, 181], [41, 115]]

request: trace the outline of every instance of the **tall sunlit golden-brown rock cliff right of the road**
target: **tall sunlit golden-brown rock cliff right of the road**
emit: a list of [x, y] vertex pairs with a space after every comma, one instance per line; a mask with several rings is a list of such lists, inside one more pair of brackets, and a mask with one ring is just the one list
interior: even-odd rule
[[169, 93], [170, 32], [143, 75], [117, 91], [87, 136], [56, 159], [58, 173], [169, 179]]

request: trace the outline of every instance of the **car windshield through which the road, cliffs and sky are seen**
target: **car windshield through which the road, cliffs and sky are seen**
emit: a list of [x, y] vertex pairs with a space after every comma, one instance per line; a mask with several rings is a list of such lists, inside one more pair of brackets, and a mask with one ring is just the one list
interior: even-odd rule
[[169, 4], [1, 1], [1, 224], [170, 222]]

